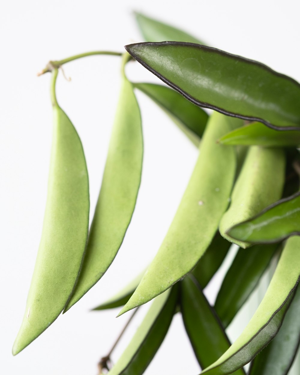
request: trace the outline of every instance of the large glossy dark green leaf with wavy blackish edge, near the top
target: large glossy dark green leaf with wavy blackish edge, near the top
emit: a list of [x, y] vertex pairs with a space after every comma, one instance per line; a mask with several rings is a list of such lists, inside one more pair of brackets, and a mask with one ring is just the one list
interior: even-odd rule
[[135, 43], [125, 48], [201, 107], [278, 129], [299, 129], [300, 84], [266, 65], [193, 43]]

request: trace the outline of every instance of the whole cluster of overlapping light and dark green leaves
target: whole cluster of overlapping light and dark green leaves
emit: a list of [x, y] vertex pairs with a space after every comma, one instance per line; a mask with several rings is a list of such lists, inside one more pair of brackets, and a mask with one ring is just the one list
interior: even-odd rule
[[[155, 298], [110, 374], [142, 374], [176, 311], [182, 314], [203, 374], [245, 374], [243, 366], [250, 361], [250, 375], [287, 374], [300, 339], [300, 85], [261, 63], [204, 46], [174, 27], [141, 14], [136, 19], [147, 42], [126, 50], [171, 88], [133, 84], [123, 73], [89, 234], [84, 154], [56, 102], [57, 69], [52, 73], [55, 129], [48, 201], [13, 352], [23, 350], [60, 312], [71, 308], [101, 278], [121, 246], [142, 168], [141, 117], [133, 91], [138, 89], [166, 111], [201, 152], [147, 271], [95, 308], [123, 306], [123, 314]], [[125, 53], [123, 66], [128, 58]], [[214, 111], [208, 116], [200, 107]], [[231, 243], [240, 249], [211, 306], [203, 289]], [[271, 260], [278, 263], [269, 288], [231, 344], [225, 329]]]

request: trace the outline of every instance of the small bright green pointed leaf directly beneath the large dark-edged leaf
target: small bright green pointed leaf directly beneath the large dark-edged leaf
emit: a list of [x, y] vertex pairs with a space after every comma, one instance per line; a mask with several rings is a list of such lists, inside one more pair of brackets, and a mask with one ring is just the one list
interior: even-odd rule
[[254, 122], [223, 135], [219, 142], [228, 145], [258, 145], [264, 147], [284, 147], [300, 145], [300, 132], [286, 130], [279, 132]]

